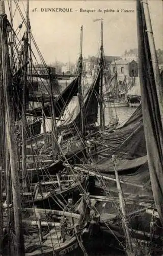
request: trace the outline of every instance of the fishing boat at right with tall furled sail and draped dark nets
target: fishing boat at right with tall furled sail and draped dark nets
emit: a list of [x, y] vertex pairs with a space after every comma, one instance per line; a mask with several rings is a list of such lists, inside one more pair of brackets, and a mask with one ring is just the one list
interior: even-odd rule
[[127, 255], [162, 255], [162, 91], [147, 1], [137, 1], [137, 22], [142, 104], [103, 134], [101, 158], [75, 169], [97, 177], [105, 194], [90, 197], [109, 209], [105, 229]]

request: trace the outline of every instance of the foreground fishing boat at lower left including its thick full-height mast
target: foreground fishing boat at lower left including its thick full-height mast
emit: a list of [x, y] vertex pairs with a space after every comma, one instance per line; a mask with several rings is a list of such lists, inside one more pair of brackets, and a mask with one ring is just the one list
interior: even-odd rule
[[[29, 2], [27, 2], [27, 10], [29, 10]], [[85, 198], [82, 198], [82, 205], [78, 205], [75, 214], [72, 211], [65, 210], [37, 209], [34, 204], [33, 208], [23, 208], [21, 193], [24, 193], [24, 191], [22, 192], [20, 187], [25, 188], [25, 183], [28, 183], [26, 179], [28, 175], [25, 172], [26, 166], [24, 165], [26, 159], [25, 148], [22, 148], [21, 181], [18, 176], [8, 24], [5, 3], [1, 0], [1, 179], [3, 179], [2, 170], [4, 170], [5, 176], [5, 180], [1, 180], [1, 185], [3, 184], [6, 190], [6, 201], [3, 202], [3, 187], [1, 186], [1, 254], [16, 254], [19, 256], [69, 255], [70, 251], [80, 248], [87, 255], [83, 245], [83, 241], [85, 238], [88, 239], [90, 231], [88, 204], [91, 203], [88, 202], [87, 193]], [[82, 192], [85, 191], [81, 183], [79, 187]]]

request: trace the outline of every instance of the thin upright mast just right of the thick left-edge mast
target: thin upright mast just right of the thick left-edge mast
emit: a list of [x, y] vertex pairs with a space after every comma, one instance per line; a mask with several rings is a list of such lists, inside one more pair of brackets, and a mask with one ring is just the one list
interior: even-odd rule
[[26, 186], [26, 89], [29, 43], [29, 0], [26, 3], [26, 32], [24, 33], [23, 79], [22, 79], [22, 185]]

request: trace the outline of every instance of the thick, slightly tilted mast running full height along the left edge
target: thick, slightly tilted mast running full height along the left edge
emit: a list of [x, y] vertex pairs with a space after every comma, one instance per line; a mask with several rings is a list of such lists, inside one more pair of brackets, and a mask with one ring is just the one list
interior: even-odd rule
[[17, 150], [16, 150], [16, 133], [14, 125], [14, 108], [13, 98], [11, 92], [11, 70], [10, 70], [10, 59], [9, 59], [9, 48], [8, 48], [8, 37], [7, 37], [7, 15], [5, 15], [5, 4], [4, 1], [0, 2], [0, 17], [1, 17], [1, 34], [3, 35], [2, 42], [2, 68], [3, 68], [3, 86], [5, 93], [5, 105], [7, 113], [7, 132], [8, 149], [10, 155], [10, 168], [11, 168], [11, 179], [12, 179], [12, 194], [13, 194], [13, 208], [14, 208], [14, 225], [15, 225], [15, 237], [16, 237], [16, 255], [23, 256], [24, 253], [24, 240], [22, 234], [22, 223], [21, 223], [21, 201], [20, 201], [20, 188], [18, 182], [18, 166], [17, 166]]

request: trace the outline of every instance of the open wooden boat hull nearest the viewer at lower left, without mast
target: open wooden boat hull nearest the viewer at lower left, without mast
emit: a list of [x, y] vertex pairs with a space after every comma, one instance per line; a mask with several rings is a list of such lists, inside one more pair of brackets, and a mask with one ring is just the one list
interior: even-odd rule
[[[42, 236], [42, 242], [40, 242], [40, 240], [34, 235], [29, 236], [28, 238], [26, 238], [25, 236], [25, 256], [83, 255], [83, 250], [85, 250], [85, 243], [88, 241], [89, 235], [92, 230], [92, 226], [90, 225], [89, 220], [86, 220], [86, 218], [84, 218], [82, 224], [79, 214], [73, 214], [72, 212], [67, 211], [58, 211], [51, 209], [44, 210], [38, 208], [36, 208], [35, 210], [32, 208], [26, 208], [24, 212], [26, 216], [25, 219], [27, 219], [28, 214], [31, 215], [32, 212], [33, 214], [35, 212], [35, 215], [37, 216], [38, 212], [40, 212], [41, 218], [43, 218], [43, 215], [46, 216], [46, 218], [48, 216], [53, 217], [50, 217], [52, 218], [51, 222], [40, 222], [41, 227], [46, 226], [46, 228], [48, 228], [48, 233]], [[68, 221], [69, 224], [71, 223], [70, 227], [67, 229], [67, 226], [65, 226], [64, 229], [64, 227], [61, 226], [61, 222], [55, 222], [56, 218], [58, 218], [59, 220], [64, 218], [66, 221]], [[95, 223], [97, 227], [99, 226], [97, 224], [99, 223], [98, 220], [99, 219], [97, 218], [97, 222]], [[23, 224], [30, 225], [31, 227], [37, 227], [38, 220], [24, 220]], [[50, 227], [51, 229], [49, 229]], [[64, 241], [63, 236], [61, 239], [62, 230], [67, 230], [64, 235]], [[27, 230], [27, 233], [29, 234], [29, 229]], [[82, 254], [80, 254], [81, 251]]]

